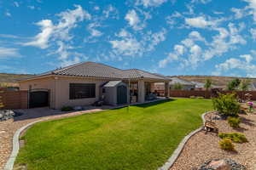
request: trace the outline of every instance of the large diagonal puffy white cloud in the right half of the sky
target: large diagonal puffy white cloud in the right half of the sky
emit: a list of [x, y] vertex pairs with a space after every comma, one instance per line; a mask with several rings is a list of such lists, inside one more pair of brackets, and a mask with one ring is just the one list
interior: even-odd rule
[[[212, 42], [207, 42], [198, 31], [191, 31], [187, 38], [174, 45], [173, 51], [168, 54], [166, 59], [160, 60], [159, 66], [164, 67], [178, 59], [183, 68], [189, 66], [189, 68], [195, 69], [200, 63], [212, 59], [212, 57], [221, 56], [239, 44], [246, 44], [247, 41], [240, 34], [243, 29], [242, 24], [236, 27], [232, 23], [228, 25], [228, 30], [222, 27], [212, 28], [212, 30], [218, 31], [218, 34], [212, 37]], [[203, 44], [201, 45], [201, 43]], [[247, 57], [247, 59], [249, 58]]]

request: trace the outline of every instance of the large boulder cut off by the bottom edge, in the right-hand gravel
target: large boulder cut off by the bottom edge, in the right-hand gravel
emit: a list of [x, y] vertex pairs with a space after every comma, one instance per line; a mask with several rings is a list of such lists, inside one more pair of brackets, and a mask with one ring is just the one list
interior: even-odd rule
[[246, 167], [231, 159], [206, 161], [198, 170], [246, 170]]

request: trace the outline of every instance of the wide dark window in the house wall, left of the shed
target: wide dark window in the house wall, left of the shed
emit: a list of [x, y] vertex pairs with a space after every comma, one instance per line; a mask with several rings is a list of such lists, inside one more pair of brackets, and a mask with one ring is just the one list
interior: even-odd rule
[[96, 85], [94, 83], [70, 83], [69, 99], [95, 98]]

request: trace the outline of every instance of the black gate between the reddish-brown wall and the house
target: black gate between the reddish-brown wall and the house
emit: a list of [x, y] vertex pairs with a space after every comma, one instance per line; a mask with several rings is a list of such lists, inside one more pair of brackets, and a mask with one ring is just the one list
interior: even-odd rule
[[49, 90], [38, 89], [29, 92], [29, 108], [49, 106]]

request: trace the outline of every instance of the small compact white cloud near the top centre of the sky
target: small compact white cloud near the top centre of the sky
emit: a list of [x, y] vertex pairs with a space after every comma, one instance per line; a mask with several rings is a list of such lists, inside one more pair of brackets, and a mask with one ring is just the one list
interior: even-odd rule
[[125, 20], [128, 21], [129, 25], [134, 30], [143, 29], [143, 26], [141, 26], [141, 20], [139, 19], [138, 15], [134, 9], [131, 9], [128, 11], [128, 13], [125, 15]]

